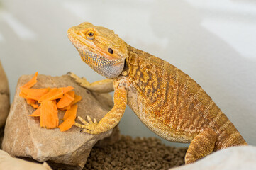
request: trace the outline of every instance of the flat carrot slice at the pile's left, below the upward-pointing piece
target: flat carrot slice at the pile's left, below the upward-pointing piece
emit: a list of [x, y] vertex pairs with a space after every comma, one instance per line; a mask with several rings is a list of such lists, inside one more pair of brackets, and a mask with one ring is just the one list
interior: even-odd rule
[[21, 88], [21, 93], [26, 94], [27, 99], [33, 99], [38, 101], [43, 95], [47, 94], [50, 91], [50, 88], [42, 88], [42, 89], [26, 89]]

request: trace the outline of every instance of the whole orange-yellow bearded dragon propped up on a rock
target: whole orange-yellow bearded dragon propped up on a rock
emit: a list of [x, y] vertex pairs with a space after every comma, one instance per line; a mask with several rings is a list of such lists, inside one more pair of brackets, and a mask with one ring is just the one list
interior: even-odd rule
[[121, 120], [126, 105], [165, 140], [189, 143], [185, 163], [211, 152], [247, 145], [233, 123], [191, 77], [172, 64], [131, 47], [113, 30], [81, 23], [69, 28], [69, 40], [82, 60], [106, 80], [89, 83], [69, 75], [86, 89], [100, 93], [114, 90], [114, 106], [99, 123], [78, 117], [83, 132], [99, 134]]

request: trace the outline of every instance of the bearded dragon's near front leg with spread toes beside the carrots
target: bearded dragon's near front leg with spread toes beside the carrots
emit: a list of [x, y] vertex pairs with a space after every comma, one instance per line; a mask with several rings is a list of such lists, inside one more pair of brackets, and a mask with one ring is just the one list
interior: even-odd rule
[[78, 119], [82, 123], [84, 123], [84, 125], [81, 125], [79, 123], [74, 123], [74, 125], [76, 125], [79, 128], [83, 128], [84, 130], [82, 131], [89, 134], [99, 134], [99, 133], [111, 130], [119, 123], [126, 109], [126, 104], [127, 104], [126, 89], [125, 88], [116, 89], [113, 95], [113, 101], [114, 101], [113, 108], [104, 116], [104, 118], [102, 118], [99, 121], [99, 123], [97, 123], [96, 119], [92, 121], [91, 118], [87, 116], [88, 122], [78, 117]]

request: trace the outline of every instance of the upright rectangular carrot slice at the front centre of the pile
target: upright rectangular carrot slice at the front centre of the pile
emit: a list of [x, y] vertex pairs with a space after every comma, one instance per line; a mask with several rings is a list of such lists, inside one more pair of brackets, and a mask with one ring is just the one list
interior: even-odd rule
[[57, 116], [57, 106], [53, 101], [42, 101], [40, 108], [40, 127], [57, 128], [59, 118]]

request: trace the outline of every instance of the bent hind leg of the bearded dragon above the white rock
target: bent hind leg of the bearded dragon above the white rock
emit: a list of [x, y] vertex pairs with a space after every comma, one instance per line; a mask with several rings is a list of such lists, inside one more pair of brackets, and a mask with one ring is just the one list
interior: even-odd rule
[[185, 155], [185, 164], [195, 162], [202, 157], [213, 152], [216, 142], [216, 132], [211, 129], [200, 132], [189, 145], [189, 149]]

